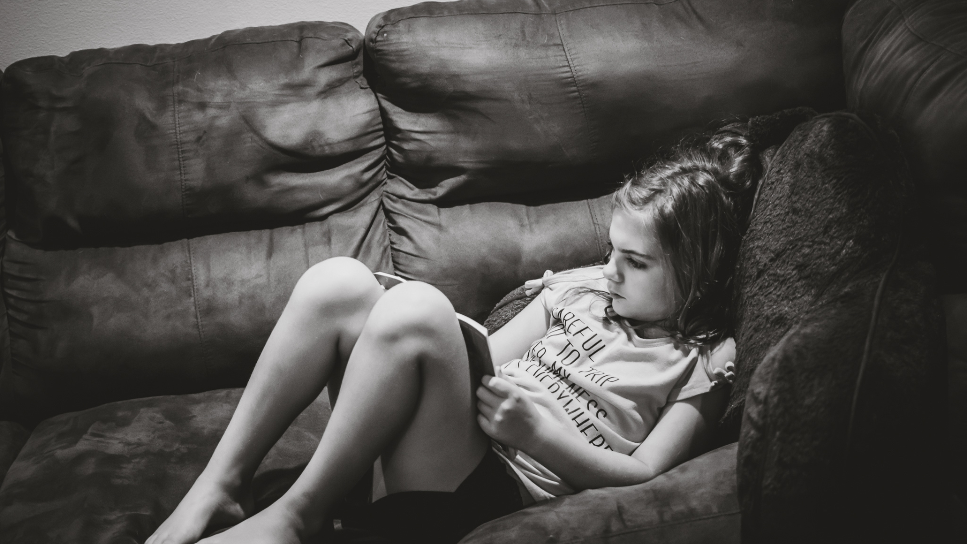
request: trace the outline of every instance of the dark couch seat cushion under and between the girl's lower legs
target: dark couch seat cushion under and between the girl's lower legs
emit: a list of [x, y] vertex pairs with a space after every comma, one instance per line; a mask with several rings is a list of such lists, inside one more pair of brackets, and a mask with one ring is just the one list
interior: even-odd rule
[[[0, 488], [0, 542], [144, 542], [208, 463], [241, 395], [137, 399], [44, 421]], [[329, 420], [326, 398], [296, 418], [255, 472], [256, 510], [305, 468]]]

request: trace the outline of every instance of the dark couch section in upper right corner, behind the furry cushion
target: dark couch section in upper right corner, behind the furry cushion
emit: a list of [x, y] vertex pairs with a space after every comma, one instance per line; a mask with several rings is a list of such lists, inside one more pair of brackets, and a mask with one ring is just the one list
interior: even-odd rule
[[[843, 20], [849, 106], [903, 141], [946, 292], [967, 292], [967, 2], [859, 0]], [[965, 332], [967, 334], [967, 332]]]

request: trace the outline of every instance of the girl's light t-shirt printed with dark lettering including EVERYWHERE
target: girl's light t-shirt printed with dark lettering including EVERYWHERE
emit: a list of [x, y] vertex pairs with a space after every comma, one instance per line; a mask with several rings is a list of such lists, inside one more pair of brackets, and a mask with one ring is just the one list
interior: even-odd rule
[[[520, 359], [501, 367], [528, 393], [544, 417], [588, 443], [630, 455], [655, 427], [666, 404], [714, 388], [707, 350], [671, 338], [643, 339], [602, 322], [606, 291], [601, 266], [545, 278], [538, 299], [550, 327]], [[700, 361], [700, 359], [702, 359]], [[521, 451], [495, 447], [535, 500], [574, 493], [567, 483]]]

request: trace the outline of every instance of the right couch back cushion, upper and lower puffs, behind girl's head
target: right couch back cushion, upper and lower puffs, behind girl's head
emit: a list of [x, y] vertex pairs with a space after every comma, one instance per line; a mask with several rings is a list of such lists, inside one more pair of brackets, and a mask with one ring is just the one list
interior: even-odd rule
[[[806, 4], [806, 5], [804, 5]], [[485, 316], [603, 257], [621, 170], [709, 121], [843, 104], [840, 2], [424, 3], [377, 15], [396, 270]]]

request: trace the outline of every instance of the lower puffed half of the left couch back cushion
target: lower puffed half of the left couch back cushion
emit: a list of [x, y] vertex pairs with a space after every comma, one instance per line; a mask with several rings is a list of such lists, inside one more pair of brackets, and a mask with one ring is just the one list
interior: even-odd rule
[[328, 257], [392, 271], [378, 195], [322, 222], [158, 245], [44, 251], [8, 236], [9, 413], [34, 421], [237, 387], [292, 288]]

